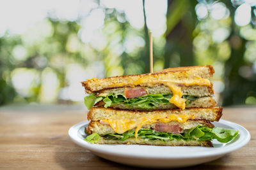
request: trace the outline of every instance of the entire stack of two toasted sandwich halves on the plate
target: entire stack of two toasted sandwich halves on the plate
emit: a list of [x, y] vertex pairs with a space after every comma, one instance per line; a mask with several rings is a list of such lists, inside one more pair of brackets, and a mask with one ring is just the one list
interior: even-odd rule
[[149, 74], [92, 78], [85, 139], [97, 144], [212, 146], [238, 131], [214, 127], [222, 108], [212, 99], [212, 66], [174, 67]]

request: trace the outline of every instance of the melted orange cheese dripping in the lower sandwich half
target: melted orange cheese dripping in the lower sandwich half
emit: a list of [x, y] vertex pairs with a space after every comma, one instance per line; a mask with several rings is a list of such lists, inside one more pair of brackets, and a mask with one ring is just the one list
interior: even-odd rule
[[180, 123], [187, 122], [187, 120], [191, 118], [194, 119], [194, 115], [167, 115], [167, 114], [161, 114], [161, 115], [148, 115], [141, 118], [134, 118], [134, 119], [127, 119], [127, 120], [113, 120], [113, 119], [104, 119], [100, 120], [104, 123], [107, 123], [111, 126], [113, 131], [115, 131], [118, 134], [123, 134], [126, 131], [129, 131], [131, 129], [135, 129], [135, 138], [138, 138], [138, 131], [141, 129], [143, 125], [147, 124], [154, 124], [156, 122], [171, 122], [171, 121], [178, 121]]

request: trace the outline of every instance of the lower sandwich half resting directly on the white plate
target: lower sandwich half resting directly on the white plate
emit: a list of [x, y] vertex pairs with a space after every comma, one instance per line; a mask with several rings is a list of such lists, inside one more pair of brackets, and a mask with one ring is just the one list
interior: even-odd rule
[[233, 129], [214, 127], [222, 108], [131, 111], [93, 107], [88, 113], [90, 134], [97, 144], [163, 146], [212, 146], [212, 139], [227, 143], [237, 136]]

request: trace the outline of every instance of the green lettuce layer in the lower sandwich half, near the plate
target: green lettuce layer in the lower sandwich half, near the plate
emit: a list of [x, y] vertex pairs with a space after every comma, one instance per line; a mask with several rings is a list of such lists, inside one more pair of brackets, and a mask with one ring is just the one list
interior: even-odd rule
[[[134, 129], [126, 131], [122, 134], [104, 134], [101, 136], [95, 132], [87, 136], [84, 140], [90, 143], [95, 143], [101, 137], [106, 140], [125, 141], [128, 138], [134, 138], [135, 134], [136, 131], [134, 131]], [[140, 131], [138, 131], [138, 138], [141, 138], [145, 141], [161, 141], [163, 143], [173, 140], [212, 141], [212, 139], [217, 139], [221, 143], [228, 143], [232, 139], [236, 138], [238, 134], [239, 132], [234, 129], [224, 129], [220, 127], [211, 128], [198, 125], [197, 127], [187, 129], [179, 134], [159, 132], [152, 129], [140, 129]]]

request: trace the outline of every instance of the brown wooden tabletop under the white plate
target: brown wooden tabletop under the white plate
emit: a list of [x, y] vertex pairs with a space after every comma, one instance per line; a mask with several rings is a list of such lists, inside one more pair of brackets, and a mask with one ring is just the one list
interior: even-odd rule
[[[225, 108], [223, 119], [243, 125], [248, 145], [191, 169], [256, 169], [256, 108]], [[0, 110], [0, 169], [134, 169], [101, 159], [75, 145], [68, 129], [85, 111]]]

